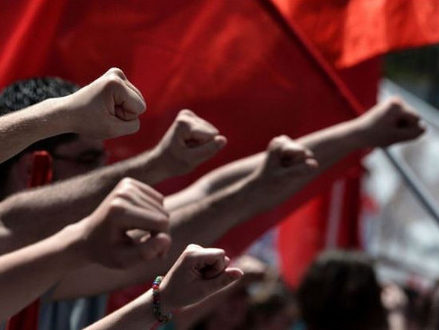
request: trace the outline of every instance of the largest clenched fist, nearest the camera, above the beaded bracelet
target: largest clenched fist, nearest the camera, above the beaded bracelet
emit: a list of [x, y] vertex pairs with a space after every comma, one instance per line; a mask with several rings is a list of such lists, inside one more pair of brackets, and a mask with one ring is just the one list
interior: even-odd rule
[[[85, 259], [110, 268], [130, 267], [162, 256], [171, 243], [163, 196], [129, 178], [121, 180], [77, 228]], [[142, 230], [145, 235], [134, 241], [127, 235], [130, 230]]]

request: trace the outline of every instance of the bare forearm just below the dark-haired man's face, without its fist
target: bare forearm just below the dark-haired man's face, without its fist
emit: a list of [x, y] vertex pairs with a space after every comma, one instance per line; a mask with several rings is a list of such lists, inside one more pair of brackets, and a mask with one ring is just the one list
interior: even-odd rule
[[13, 195], [0, 203], [0, 253], [52, 235], [86, 217], [124, 177], [154, 184], [164, 179], [154, 152], [92, 173]]

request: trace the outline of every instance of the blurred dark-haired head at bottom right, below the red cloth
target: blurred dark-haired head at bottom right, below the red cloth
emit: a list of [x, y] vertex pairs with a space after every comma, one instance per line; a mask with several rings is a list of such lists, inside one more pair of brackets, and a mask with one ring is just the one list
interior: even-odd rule
[[311, 330], [386, 329], [371, 260], [363, 253], [322, 253], [298, 289], [302, 317]]

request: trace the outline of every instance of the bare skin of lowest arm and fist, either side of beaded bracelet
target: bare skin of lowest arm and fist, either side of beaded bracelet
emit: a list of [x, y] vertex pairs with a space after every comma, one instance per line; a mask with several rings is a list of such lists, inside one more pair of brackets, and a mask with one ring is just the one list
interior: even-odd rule
[[[224, 250], [189, 245], [160, 285], [162, 312], [194, 304], [240, 279], [242, 271], [228, 267], [229, 262]], [[148, 310], [152, 310], [151, 290], [87, 329], [150, 328], [156, 320]]]

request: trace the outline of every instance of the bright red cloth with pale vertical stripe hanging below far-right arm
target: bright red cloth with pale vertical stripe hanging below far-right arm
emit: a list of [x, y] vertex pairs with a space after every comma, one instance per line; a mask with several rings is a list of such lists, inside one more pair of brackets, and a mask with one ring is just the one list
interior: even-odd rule
[[359, 248], [361, 168], [352, 168], [331, 190], [306, 203], [279, 225], [280, 274], [292, 289], [316, 254], [325, 249]]

